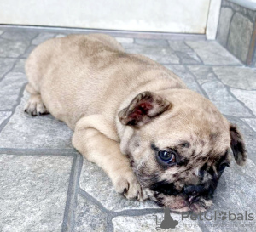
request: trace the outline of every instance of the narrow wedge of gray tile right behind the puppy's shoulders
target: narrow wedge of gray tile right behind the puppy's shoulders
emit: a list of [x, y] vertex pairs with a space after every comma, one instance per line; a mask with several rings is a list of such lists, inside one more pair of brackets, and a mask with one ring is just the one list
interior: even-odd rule
[[192, 76], [189, 71], [187, 71], [182, 65], [165, 65], [167, 69], [173, 71], [177, 76], [179, 76], [188, 88], [194, 90], [197, 93], [201, 92], [200, 87], [195, 82], [194, 76]]

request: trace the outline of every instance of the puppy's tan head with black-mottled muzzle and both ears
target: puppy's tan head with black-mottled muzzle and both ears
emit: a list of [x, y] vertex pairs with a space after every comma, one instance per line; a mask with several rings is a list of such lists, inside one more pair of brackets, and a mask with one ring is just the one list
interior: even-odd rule
[[150, 199], [172, 210], [206, 210], [230, 166], [230, 148], [238, 165], [247, 159], [236, 126], [188, 89], [140, 93], [119, 120], [127, 126], [120, 147], [139, 183]]

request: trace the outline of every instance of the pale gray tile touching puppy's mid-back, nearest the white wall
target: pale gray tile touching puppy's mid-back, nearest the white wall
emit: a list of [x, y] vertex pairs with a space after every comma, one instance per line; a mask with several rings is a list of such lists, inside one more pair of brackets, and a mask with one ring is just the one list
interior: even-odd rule
[[174, 53], [172, 48], [169, 47], [143, 47], [142, 45], [138, 45], [131, 46], [131, 48], [125, 48], [127, 53], [143, 54], [148, 58], [159, 62], [160, 64], [179, 64], [179, 58]]

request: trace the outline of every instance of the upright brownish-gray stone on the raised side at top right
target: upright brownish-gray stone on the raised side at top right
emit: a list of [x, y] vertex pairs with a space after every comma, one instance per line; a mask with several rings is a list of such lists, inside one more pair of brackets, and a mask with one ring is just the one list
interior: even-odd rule
[[243, 62], [247, 61], [252, 35], [253, 23], [243, 15], [236, 13], [230, 25], [228, 49]]

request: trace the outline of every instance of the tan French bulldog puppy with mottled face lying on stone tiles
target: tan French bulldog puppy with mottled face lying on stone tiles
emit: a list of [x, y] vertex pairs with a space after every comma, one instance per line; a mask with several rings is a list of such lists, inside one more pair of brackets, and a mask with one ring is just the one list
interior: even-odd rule
[[50, 113], [73, 129], [73, 146], [128, 199], [202, 212], [230, 149], [247, 160], [235, 125], [181, 79], [102, 34], [50, 39], [26, 60], [25, 111]]

